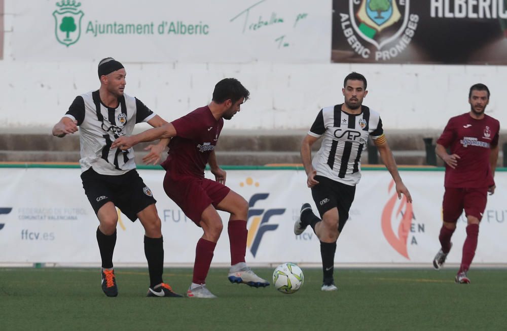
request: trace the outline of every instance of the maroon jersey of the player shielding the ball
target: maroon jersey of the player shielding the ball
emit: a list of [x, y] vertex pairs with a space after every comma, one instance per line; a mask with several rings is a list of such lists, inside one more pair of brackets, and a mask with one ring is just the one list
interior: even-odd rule
[[171, 175], [204, 178], [204, 168], [219, 140], [224, 120], [216, 120], [205, 106], [171, 123], [176, 129], [176, 137], [171, 139], [169, 156], [161, 166]]

